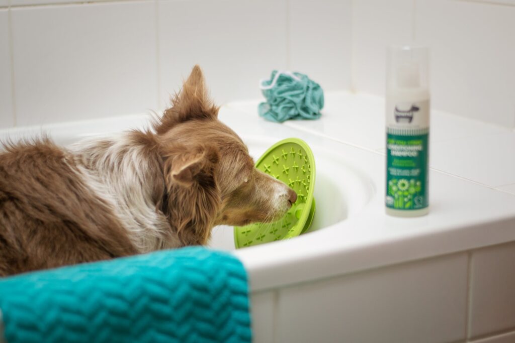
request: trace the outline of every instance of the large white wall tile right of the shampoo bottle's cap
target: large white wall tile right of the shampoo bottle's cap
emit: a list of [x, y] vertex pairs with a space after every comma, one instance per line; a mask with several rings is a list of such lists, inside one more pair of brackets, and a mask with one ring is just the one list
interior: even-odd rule
[[510, 6], [417, 2], [416, 41], [431, 47], [435, 109], [515, 127], [514, 17]]

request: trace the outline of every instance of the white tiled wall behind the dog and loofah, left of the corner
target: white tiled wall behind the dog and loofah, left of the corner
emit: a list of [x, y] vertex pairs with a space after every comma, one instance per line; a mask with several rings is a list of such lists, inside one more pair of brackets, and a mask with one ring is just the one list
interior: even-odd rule
[[0, 0], [0, 127], [159, 112], [196, 63], [219, 104], [273, 69], [350, 88], [350, 18], [350, 0]]

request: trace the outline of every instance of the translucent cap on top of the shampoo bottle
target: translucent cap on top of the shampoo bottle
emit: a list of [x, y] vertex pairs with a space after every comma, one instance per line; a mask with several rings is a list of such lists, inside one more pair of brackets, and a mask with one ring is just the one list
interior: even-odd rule
[[388, 48], [386, 88], [428, 88], [428, 49], [391, 46]]

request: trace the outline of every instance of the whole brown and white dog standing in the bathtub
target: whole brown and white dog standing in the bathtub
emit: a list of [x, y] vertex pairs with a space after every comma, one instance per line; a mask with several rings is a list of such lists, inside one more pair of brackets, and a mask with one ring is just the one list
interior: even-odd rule
[[254, 168], [193, 68], [153, 130], [0, 152], [0, 276], [206, 244], [280, 218], [297, 195]]

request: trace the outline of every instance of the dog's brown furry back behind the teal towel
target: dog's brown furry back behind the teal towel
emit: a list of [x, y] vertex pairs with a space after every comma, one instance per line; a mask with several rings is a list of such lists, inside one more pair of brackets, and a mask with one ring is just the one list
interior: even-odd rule
[[0, 276], [135, 254], [71, 154], [48, 140], [0, 153]]

